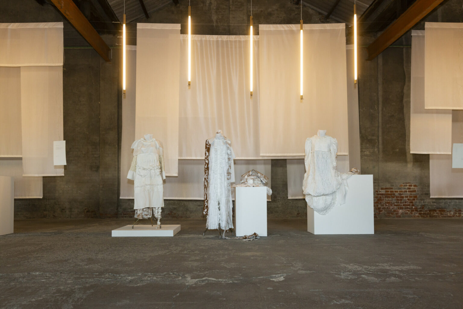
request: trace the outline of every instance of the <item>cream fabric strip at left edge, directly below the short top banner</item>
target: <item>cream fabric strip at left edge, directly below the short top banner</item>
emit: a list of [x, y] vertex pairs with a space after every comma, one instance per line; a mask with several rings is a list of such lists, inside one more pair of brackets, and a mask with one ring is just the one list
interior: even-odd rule
[[0, 67], [0, 158], [21, 154], [21, 68]]

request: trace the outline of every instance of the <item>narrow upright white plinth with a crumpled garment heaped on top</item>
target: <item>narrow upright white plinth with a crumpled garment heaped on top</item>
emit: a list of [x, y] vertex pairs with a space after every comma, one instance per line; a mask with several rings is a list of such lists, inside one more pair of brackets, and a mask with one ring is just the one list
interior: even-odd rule
[[236, 187], [235, 230], [237, 236], [267, 236], [267, 188]]

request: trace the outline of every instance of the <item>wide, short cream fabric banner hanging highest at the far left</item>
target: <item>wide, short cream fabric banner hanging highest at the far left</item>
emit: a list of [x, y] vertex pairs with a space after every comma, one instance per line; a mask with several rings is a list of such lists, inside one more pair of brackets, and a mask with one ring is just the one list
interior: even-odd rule
[[63, 65], [63, 23], [0, 24], [0, 67]]

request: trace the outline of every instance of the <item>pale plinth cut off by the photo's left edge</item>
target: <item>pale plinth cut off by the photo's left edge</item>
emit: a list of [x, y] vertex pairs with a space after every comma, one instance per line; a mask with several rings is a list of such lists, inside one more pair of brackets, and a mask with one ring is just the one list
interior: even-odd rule
[[0, 176], [0, 235], [13, 233], [14, 178]]

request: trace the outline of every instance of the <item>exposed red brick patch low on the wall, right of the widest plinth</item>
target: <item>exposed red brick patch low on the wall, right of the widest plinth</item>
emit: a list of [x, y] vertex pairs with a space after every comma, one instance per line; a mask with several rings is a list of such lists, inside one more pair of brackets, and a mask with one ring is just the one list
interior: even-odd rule
[[461, 208], [426, 207], [424, 199], [418, 198], [418, 186], [402, 183], [398, 187], [383, 187], [375, 190], [375, 218], [457, 218], [462, 217]]

